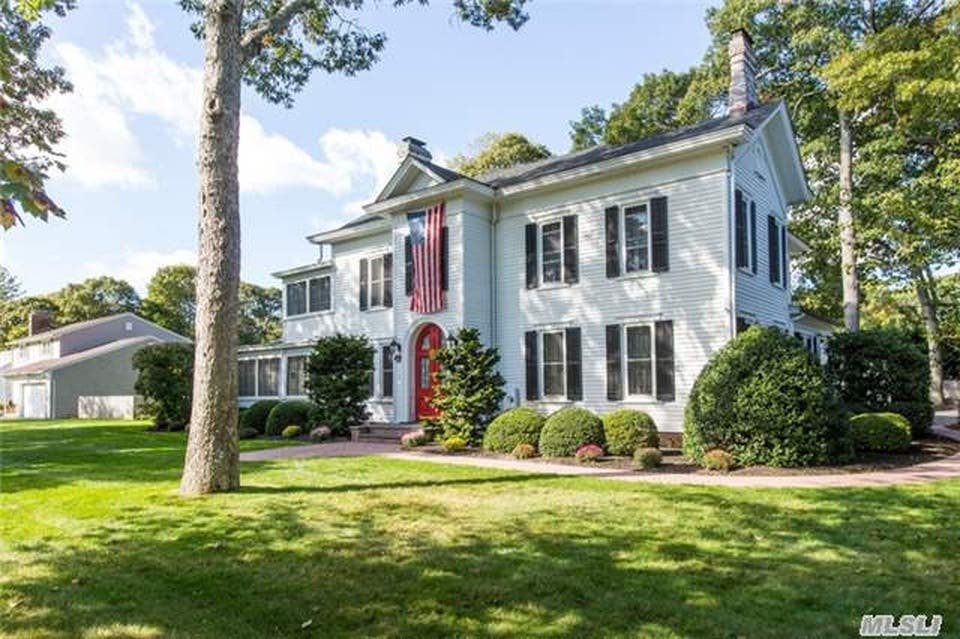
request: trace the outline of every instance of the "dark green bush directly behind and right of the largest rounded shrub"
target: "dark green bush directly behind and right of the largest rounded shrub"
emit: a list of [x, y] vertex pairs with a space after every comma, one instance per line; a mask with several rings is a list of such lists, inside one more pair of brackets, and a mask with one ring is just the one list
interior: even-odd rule
[[828, 340], [827, 352], [827, 380], [845, 405], [855, 412], [896, 412], [896, 404], [909, 413], [916, 435], [930, 428], [930, 369], [907, 334], [894, 329], [837, 333]]

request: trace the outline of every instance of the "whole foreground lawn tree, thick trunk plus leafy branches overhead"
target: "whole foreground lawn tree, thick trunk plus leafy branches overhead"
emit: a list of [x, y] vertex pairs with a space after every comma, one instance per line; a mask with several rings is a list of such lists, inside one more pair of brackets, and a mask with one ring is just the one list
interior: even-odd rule
[[[421, 0], [421, 3], [423, 0]], [[454, 0], [475, 27], [526, 20], [526, 0]], [[396, 0], [394, 6], [413, 4]], [[240, 88], [291, 106], [312, 72], [352, 75], [379, 59], [386, 34], [360, 24], [363, 0], [180, 0], [199, 20], [204, 73], [198, 149], [200, 232], [197, 362], [190, 438], [180, 490], [202, 494], [240, 486], [237, 440], [237, 323], [240, 198], [237, 148]]]

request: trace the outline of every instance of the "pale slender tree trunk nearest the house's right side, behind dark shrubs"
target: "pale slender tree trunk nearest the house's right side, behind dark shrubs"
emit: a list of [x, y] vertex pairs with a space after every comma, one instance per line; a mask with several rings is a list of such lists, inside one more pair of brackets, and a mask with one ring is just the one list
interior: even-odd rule
[[857, 281], [857, 236], [853, 228], [853, 134], [850, 117], [840, 116], [840, 269], [843, 280], [843, 323], [860, 330], [860, 286]]

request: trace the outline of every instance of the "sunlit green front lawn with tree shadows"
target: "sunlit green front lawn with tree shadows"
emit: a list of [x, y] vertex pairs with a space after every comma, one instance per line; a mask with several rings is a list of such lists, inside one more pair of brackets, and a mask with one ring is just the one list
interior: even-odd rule
[[852, 637], [864, 613], [960, 635], [956, 481], [706, 489], [358, 458], [244, 464], [240, 493], [187, 500], [183, 446], [0, 424], [0, 635]]

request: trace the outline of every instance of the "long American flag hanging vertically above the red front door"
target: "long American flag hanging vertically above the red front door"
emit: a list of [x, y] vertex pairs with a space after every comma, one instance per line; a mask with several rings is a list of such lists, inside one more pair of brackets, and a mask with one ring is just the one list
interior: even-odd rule
[[434, 313], [443, 309], [440, 269], [443, 255], [443, 202], [426, 211], [407, 214], [413, 250], [413, 295], [410, 310]]

